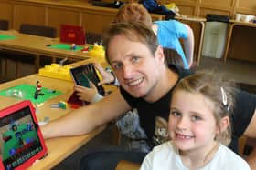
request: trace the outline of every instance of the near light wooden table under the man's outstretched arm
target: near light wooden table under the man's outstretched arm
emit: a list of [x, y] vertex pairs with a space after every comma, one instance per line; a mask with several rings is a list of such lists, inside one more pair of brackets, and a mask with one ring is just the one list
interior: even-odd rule
[[[74, 64], [77, 65], [77, 64]], [[63, 115], [71, 114], [69, 113], [72, 109], [61, 109], [61, 108], [51, 108], [51, 104], [56, 104], [60, 100], [67, 101], [71, 93], [73, 92], [73, 83], [64, 80], [52, 79], [48, 77], [43, 77], [39, 75], [28, 75], [23, 78], [16, 79], [14, 81], [10, 81], [0, 85], [0, 90], [6, 89], [8, 87], [12, 87], [15, 85], [20, 84], [29, 84], [29, 85], [36, 85], [36, 82], [40, 81], [40, 85], [43, 87], [47, 87], [50, 89], [55, 89], [63, 92], [63, 95], [58, 95], [55, 98], [49, 99], [48, 101], [44, 102], [42, 105], [36, 105], [37, 107], [37, 120], [41, 121], [44, 119], [45, 116], [50, 118], [50, 121], [57, 119]], [[21, 101], [18, 98], [12, 97], [4, 97], [0, 96], [0, 109], [5, 108], [9, 105], [14, 105]], [[59, 127], [61, 128], [61, 127]], [[66, 157], [71, 155], [80, 146], [86, 144], [88, 141], [91, 140], [95, 135], [101, 133], [101, 131], [105, 128], [105, 125], [97, 128], [93, 132], [87, 135], [79, 135], [79, 136], [72, 136], [72, 137], [58, 137], [46, 140], [46, 145], [48, 148], [48, 156], [44, 159], [37, 162], [37, 164], [31, 166], [29, 170], [35, 169], [50, 169], [55, 165], [58, 165], [59, 162], [64, 160]]]

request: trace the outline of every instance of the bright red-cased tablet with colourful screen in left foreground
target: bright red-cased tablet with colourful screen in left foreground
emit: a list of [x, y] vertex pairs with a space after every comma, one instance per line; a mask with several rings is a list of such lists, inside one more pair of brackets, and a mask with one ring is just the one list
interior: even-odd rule
[[47, 155], [35, 108], [28, 100], [0, 110], [0, 169], [24, 170]]

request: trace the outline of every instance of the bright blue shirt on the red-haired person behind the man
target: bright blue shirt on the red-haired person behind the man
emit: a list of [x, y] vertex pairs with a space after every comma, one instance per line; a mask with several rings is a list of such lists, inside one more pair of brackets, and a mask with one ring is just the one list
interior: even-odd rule
[[187, 64], [187, 58], [179, 42], [179, 38], [188, 37], [187, 27], [184, 24], [177, 22], [176, 20], [155, 21], [154, 24], [158, 27], [158, 43], [164, 48], [170, 48], [175, 50], [178, 55], [181, 56], [184, 67], [186, 69], [189, 69]]

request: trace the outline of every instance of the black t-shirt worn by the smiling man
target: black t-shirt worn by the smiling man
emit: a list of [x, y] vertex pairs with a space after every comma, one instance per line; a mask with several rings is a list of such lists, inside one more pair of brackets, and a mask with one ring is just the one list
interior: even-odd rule
[[[192, 73], [181, 67], [169, 65], [169, 68], [178, 75], [178, 81]], [[155, 144], [155, 119], [162, 117], [168, 121], [170, 112], [170, 100], [173, 88], [169, 90], [162, 98], [154, 103], [148, 103], [143, 98], [134, 98], [120, 87], [121, 94], [126, 102], [133, 108], [137, 108], [140, 123], [143, 127], [145, 134], [148, 137], [148, 144], [151, 146]], [[231, 116], [232, 121], [232, 141], [229, 147], [237, 152], [238, 138], [242, 135], [251, 121], [256, 105], [256, 95], [249, 94], [244, 91], [238, 90], [235, 95], [235, 107]]]

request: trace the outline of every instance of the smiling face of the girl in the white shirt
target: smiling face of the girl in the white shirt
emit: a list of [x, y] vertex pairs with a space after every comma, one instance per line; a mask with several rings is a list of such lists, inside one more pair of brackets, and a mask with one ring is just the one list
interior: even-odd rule
[[169, 135], [179, 151], [207, 149], [219, 133], [213, 103], [204, 95], [176, 90], [169, 116]]

